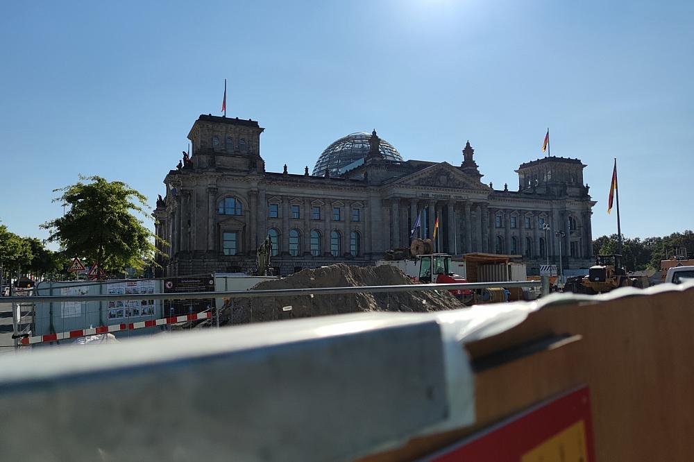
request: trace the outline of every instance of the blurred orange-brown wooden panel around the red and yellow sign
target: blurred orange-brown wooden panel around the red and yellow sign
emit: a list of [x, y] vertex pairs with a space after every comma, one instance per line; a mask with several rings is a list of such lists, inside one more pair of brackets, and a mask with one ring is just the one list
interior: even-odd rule
[[598, 461], [694, 460], [694, 289], [548, 307], [466, 345], [473, 359], [555, 334], [582, 340], [475, 375], [477, 423], [365, 460], [412, 460], [588, 384]]

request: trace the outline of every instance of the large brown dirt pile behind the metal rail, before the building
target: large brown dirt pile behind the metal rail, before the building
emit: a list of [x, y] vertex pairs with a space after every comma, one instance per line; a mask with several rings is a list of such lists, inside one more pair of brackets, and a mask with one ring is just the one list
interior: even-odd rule
[[[338, 263], [305, 269], [278, 280], [253, 286], [252, 291], [317, 287], [391, 286], [414, 284], [395, 266], [348, 266]], [[291, 306], [291, 311], [282, 307]], [[360, 311], [442, 311], [464, 307], [448, 291], [349, 293], [294, 297], [235, 298], [220, 309], [220, 324], [255, 323], [285, 318], [308, 318]], [[216, 322], [215, 322], [216, 323]], [[206, 324], [210, 324], [209, 321]]]

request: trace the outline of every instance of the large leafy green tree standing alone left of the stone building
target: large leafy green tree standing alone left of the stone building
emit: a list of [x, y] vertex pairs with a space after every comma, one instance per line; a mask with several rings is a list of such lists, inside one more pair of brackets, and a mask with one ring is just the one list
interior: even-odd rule
[[100, 176], [80, 176], [75, 185], [53, 192], [62, 193], [53, 202], [69, 205], [69, 212], [42, 228], [51, 232], [48, 240], [60, 243], [65, 255], [98, 263], [107, 273], [142, 269], [144, 259], [154, 259], [156, 237], [133, 214], [152, 219], [147, 198], [135, 189]]

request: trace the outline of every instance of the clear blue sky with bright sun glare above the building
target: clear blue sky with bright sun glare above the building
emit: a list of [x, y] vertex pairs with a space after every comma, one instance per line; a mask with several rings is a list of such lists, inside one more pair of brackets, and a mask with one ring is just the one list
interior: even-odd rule
[[154, 205], [199, 114], [266, 128], [270, 171], [303, 173], [335, 139], [373, 128], [406, 159], [485, 182], [579, 157], [607, 214], [618, 158], [627, 237], [694, 228], [694, 2], [550, 0], [32, 1], [0, 6], [0, 220], [44, 238], [51, 191], [78, 174]]

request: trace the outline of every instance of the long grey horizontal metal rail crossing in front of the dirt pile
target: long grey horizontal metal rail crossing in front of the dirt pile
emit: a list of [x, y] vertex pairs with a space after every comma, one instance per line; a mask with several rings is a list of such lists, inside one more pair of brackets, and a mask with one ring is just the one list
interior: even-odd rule
[[[546, 278], [546, 277], [545, 277]], [[287, 299], [291, 297], [309, 297], [313, 299], [314, 297], [320, 296], [334, 296], [334, 295], [349, 295], [357, 293], [405, 293], [405, 292], [418, 292], [418, 291], [450, 291], [450, 290], [476, 290], [476, 289], [495, 289], [495, 288], [532, 288], [541, 289], [542, 295], [548, 295], [549, 287], [548, 284], [543, 284], [541, 281], [513, 281], [513, 282], [466, 282], [466, 283], [455, 283], [455, 284], [405, 284], [405, 285], [389, 285], [389, 286], [353, 286], [353, 287], [312, 287], [312, 288], [301, 288], [301, 289], [273, 289], [264, 291], [210, 291], [210, 292], [186, 292], [186, 293], [148, 293], [148, 294], [99, 294], [99, 295], [72, 295], [72, 296], [12, 296], [3, 298], [3, 301], [12, 303], [12, 316], [14, 327], [13, 339], [15, 340], [15, 349], [19, 348], [20, 339], [22, 337], [28, 337], [31, 332], [26, 328], [20, 332], [20, 318], [17, 318], [17, 307], [21, 307], [22, 304], [30, 303], [32, 305], [36, 303], [54, 303], [54, 302], [96, 302], [96, 301], [117, 301], [117, 300], [142, 300], [146, 298], [148, 300], [200, 300], [200, 299], [210, 299], [210, 298], [223, 298], [231, 300], [231, 312], [233, 316], [234, 310], [234, 299], [257, 299], [257, 298], [282, 298]], [[390, 298], [388, 298], [387, 305], [390, 305]], [[219, 327], [219, 312], [221, 307], [217, 307], [216, 310], [216, 321]], [[34, 311], [33, 309], [31, 310]], [[207, 310], [205, 310], [207, 311]], [[261, 310], [262, 312], [262, 310]], [[273, 312], [274, 313], [274, 312]], [[19, 313], [21, 315], [21, 312]], [[277, 314], [275, 314], [278, 316]], [[167, 318], [165, 313], [162, 313], [163, 318]], [[210, 316], [208, 316], [209, 318]], [[15, 319], [17, 318], [17, 319]], [[176, 316], [169, 316], [167, 319], [172, 320], [171, 323], [176, 323], [178, 321], [184, 322], [185, 320], [176, 320]], [[178, 316], [178, 318], [185, 318], [185, 316]], [[273, 318], [278, 319], [278, 318]], [[190, 319], [189, 319], [190, 320]], [[256, 320], [266, 320], [266, 318]], [[251, 322], [253, 322], [253, 304], [251, 301]], [[140, 325], [139, 327], [151, 327], [144, 325], [144, 323], [125, 323], [127, 327], [122, 330], [137, 329], [139, 327], [133, 327], [134, 325]], [[157, 324], [157, 327], [160, 324]], [[85, 329], [91, 326], [85, 326]], [[88, 335], [88, 334], [85, 334]], [[72, 336], [64, 337], [66, 339], [72, 338]], [[61, 337], [63, 339], [63, 337]]]

